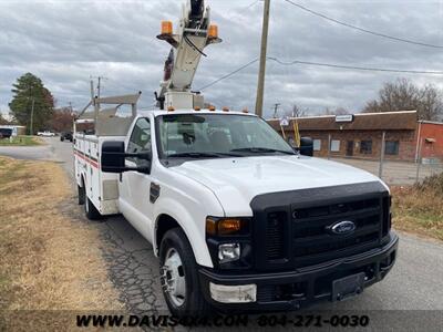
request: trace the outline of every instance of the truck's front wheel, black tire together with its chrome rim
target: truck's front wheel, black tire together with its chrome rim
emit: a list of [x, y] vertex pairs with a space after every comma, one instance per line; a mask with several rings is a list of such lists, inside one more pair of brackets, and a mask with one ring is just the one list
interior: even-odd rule
[[159, 264], [162, 292], [171, 313], [177, 318], [189, 314], [207, 317], [212, 308], [202, 294], [198, 267], [182, 229], [174, 228], [165, 234], [159, 249]]

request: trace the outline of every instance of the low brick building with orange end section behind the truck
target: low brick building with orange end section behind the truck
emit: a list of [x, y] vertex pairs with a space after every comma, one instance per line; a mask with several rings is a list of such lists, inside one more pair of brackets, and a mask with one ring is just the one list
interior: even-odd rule
[[[269, 124], [282, 133], [279, 120]], [[415, 111], [300, 117], [298, 124], [300, 135], [313, 139], [319, 157], [378, 159], [384, 133], [387, 159], [414, 162], [420, 153], [424, 160], [443, 160], [443, 123], [418, 121]], [[284, 129], [293, 139], [291, 120]]]

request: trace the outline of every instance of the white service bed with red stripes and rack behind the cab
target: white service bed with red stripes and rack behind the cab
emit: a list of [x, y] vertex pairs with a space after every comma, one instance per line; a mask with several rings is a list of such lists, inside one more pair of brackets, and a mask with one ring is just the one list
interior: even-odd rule
[[[136, 114], [140, 93], [93, 98], [74, 123], [74, 169], [79, 187], [79, 204], [85, 204], [91, 217], [119, 214], [119, 175], [104, 173], [100, 152], [106, 141], [124, 142]], [[103, 104], [117, 105], [101, 110]], [[122, 105], [131, 105], [130, 116], [119, 116]], [[86, 112], [94, 106], [93, 112]]]

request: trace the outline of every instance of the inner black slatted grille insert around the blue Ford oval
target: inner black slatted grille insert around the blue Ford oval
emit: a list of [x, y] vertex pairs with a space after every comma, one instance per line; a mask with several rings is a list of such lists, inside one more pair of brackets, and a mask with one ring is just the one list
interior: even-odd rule
[[[322, 205], [292, 210], [292, 249], [296, 266], [319, 263], [346, 256], [359, 249], [368, 250], [379, 243], [382, 230], [382, 199], [380, 197]], [[349, 220], [356, 230], [334, 235], [328, 227]]]

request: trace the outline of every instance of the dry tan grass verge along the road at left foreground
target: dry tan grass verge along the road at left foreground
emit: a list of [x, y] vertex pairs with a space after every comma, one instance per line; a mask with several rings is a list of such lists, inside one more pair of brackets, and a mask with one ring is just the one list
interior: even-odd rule
[[0, 157], [0, 322], [4, 310], [123, 308], [96, 225], [61, 212], [69, 196], [56, 164]]

